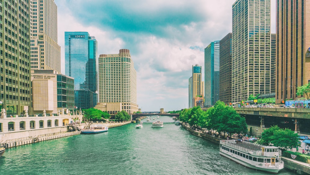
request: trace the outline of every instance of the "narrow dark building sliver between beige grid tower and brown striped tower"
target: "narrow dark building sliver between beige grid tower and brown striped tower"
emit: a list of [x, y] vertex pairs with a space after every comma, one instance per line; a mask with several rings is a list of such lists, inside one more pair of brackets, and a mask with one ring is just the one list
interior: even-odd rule
[[276, 92], [276, 34], [270, 36], [270, 93]]

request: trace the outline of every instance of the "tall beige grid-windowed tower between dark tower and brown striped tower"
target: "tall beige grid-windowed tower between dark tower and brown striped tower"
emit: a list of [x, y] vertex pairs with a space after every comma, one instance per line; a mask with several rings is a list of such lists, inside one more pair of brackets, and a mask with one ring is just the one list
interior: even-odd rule
[[270, 93], [270, 0], [232, 5], [232, 102]]

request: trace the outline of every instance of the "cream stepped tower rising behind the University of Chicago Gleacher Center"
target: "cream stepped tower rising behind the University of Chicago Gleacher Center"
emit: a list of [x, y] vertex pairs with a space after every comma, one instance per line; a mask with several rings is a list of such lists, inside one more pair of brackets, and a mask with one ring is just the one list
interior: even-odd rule
[[57, 6], [54, 0], [30, 0], [30, 3], [31, 69], [60, 72]]

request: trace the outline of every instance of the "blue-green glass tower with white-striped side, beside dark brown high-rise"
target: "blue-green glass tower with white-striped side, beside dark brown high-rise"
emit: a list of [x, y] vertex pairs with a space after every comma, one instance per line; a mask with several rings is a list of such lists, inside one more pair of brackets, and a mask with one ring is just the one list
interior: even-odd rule
[[205, 48], [205, 106], [213, 106], [219, 100], [219, 41]]

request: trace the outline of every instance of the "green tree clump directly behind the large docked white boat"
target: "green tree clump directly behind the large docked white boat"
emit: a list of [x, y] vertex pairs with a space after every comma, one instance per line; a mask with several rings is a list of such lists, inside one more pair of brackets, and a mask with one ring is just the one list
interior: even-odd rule
[[298, 134], [294, 131], [285, 128], [281, 129], [277, 125], [272, 126], [262, 133], [262, 139], [260, 144], [269, 145], [272, 144], [278, 147], [296, 147], [299, 145]]

